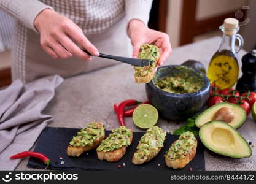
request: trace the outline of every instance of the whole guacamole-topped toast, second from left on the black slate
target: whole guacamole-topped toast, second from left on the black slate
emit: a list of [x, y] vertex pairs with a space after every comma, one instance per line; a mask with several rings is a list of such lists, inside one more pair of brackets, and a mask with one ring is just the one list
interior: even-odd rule
[[96, 149], [98, 158], [109, 162], [119, 161], [126, 153], [128, 147], [133, 141], [133, 131], [120, 126], [120, 128], [113, 129], [109, 137], [104, 139], [99, 147]]

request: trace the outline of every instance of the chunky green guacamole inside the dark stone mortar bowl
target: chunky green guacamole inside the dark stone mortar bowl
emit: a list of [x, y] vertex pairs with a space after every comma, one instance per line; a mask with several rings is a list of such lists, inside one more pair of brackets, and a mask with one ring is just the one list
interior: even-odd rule
[[203, 87], [203, 77], [193, 69], [185, 66], [177, 67], [179, 73], [171, 74], [155, 80], [154, 85], [169, 93], [193, 93]]

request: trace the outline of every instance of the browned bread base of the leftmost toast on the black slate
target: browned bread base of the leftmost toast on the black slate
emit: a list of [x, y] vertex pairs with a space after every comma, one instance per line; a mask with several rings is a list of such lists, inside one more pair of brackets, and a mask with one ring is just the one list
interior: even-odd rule
[[103, 141], [104, 138], [105, 138], [105, 134], [101, 136], [99, 140], [95, 140], [95, 142], [93, 142], [93, 145], [91, 146], [87, 145], [85, 147], [73, 147], [72, 145], [69, 144], [67, 148], [67, 155], [80, 156], [82, 153], [93, 150], [96, 147], [98, 147], [98, 145], [101, 144], [101, 141]]

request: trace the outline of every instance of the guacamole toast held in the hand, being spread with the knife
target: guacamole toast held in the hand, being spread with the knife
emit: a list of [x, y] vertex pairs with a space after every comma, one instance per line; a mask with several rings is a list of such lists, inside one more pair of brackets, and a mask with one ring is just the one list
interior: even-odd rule
[[139, 59], [147, 59], [153, 61], [149, 66], [134, 66], [135, 69], [135, 82], [136, 83], [149, 83], [153, 78], [155, 67], [157, 66], [160, 53], [158, 47], [151, 44], [141, 45], [139, 51]]

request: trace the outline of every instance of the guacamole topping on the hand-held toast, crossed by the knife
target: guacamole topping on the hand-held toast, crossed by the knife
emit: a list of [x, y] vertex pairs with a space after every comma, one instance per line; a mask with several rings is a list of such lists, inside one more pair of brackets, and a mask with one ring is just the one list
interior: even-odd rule
[[[158, 47], [151, 44], [143, 44], [141, 45], [141, 50], [139, 52], [139, 59], [147, 59], [150, 61], [156, 61], [159, 57]], [[157, 62], [153, 62], [149, 66], [135, 66], [135, 75], [137, 77], [142, 77], [155, 69]]]

